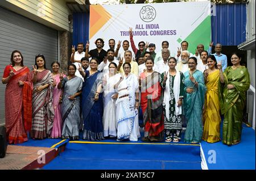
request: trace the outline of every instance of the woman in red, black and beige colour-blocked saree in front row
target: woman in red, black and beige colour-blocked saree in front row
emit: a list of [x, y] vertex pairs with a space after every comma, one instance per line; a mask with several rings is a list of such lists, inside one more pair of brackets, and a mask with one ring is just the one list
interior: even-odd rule
[[147, 70], [140, 74], [141, 108], [143, 112], [144, 138], [142, 141], [163, 141], [164, 115], [160, 74], [154, 71], [152, 57], [146, 59]]

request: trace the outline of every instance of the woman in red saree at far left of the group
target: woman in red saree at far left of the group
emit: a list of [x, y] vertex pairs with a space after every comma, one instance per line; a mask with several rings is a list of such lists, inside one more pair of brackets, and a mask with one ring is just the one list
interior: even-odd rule
[[3, 73], [5, 89], [5, 126], [9, 144], [27, 141], [32, 124], [32, 90], [30, 70], [23, 65], [19, 50], [11, 53], [11, 64]]

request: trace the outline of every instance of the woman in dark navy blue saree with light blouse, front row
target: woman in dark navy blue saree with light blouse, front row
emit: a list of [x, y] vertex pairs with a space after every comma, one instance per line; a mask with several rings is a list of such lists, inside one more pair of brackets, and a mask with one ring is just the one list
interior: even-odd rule
[[84, 140], [105, 140], [102, 124], [103, 99], [102, 99], [102, 73], [97, 70], [98, 60], [90, 60], [90, 70], [81, 72], [84, 77], [82, 86], [82, 119], [84, 119]]

